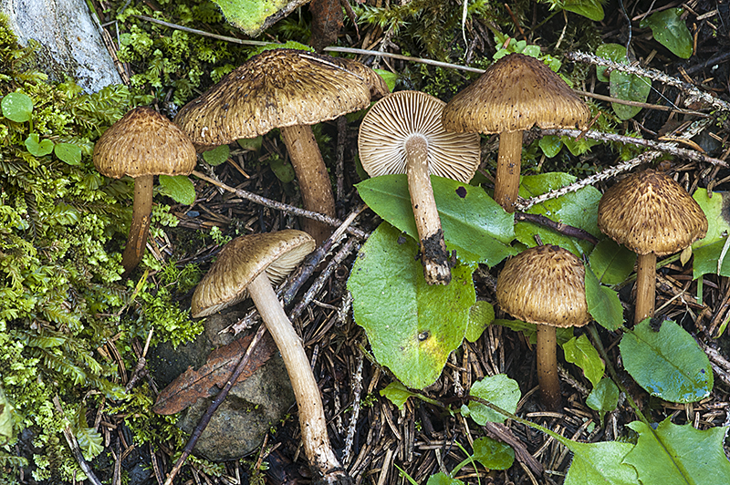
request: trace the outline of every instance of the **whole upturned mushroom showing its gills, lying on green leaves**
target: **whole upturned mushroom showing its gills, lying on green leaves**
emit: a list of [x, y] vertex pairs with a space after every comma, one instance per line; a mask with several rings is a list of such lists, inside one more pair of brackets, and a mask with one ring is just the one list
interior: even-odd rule
[[358, 138], [360, 162], [371, 177], [408, 174], [423, 273], [429, 284], [451, 281], [430, 175], [468, 182], [480, 155], [479, 135], [443, 129], [444, 104], [418, 91], [392, 93], [370, 108]]

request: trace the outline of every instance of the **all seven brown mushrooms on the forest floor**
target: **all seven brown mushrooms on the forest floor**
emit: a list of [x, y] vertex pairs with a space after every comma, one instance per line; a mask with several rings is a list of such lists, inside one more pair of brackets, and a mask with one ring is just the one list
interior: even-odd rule
[[[96, 144], [99, 172], [135, 178], [132, 223], [122, 265], [140, 262], [151, 216], [153, 176], [188, 174], [196, 152], [279, 129], [313, 212], [335, 215], [328, 171], [311, 125], [370, 107], [360, 124], [360, 161], [370, 176], [405, 173], [418, 230], [423, 274], [449, 284], [452, 259], [431, 188], [431, 175], [467, 182], [480, 163], [479, 133], [499, 134], [495, 201], [514, 212], [522, 135], [526, 129], [583, 128], [589, 108], [544, 63], [521, 54], [496, 61], [448, 104], [417, 91], [388, 94], [381, 77], [345, 58], [275, 49], [252, 57], [184, 106], [174, 123], [135, 108]], [[660, 211], [661, 209], [661, 211]], [[683, 188], [647, 170], [620, 181], [600, 201], [599, 226], [639, 253], [636, 320], [653, 313], [656, 255], [682, 250], [704, 236], [707, 221]], [[657, 214], [662, 214], [661, 217]], [[662, 218], [673, 224], [662, 224]], [[305, 231], [246, 235], [226, 244], [193, 294], [194, 317], [212, 315], [250, 297], [274, 337], [294, 388], [302, 441], [317, 480], [351, 482], [331, 449], [317, 382], [301, 338], [276, 298], [276, 285], [331, 233], [319, 222]], [[668, 230], [667, 227], [672, 229]], [[508, 260], [497, 279], [497, 303], [537, 324], [541, 398], [560, 405], [557, 326], [586, 325], [585, 267], [558, 246], [537, 246]]]

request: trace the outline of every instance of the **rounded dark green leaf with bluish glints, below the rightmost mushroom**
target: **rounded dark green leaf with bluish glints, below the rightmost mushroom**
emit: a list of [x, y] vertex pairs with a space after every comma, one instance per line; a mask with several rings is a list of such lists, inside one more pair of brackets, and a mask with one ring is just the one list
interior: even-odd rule
[[665, 401], [696, 402], [710, 395], [713, 370], [703, 350], [680, 325], [650, 319], [627, 331], [619, 345], [623, 366], [639, 386]]

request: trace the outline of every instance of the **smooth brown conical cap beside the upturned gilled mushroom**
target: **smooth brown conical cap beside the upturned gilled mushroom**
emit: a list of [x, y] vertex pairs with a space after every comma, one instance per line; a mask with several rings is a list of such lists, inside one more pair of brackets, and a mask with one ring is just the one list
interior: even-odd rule
[[454, 131], [513, 132], [585, 128], [590, 109], [535, 57], [509, 54], [488, 67], [443, 108], [443, 126]]

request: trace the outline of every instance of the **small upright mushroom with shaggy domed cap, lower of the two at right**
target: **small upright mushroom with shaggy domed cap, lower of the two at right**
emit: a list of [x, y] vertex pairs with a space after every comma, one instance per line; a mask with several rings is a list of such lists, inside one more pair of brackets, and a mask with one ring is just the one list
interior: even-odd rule
[[586, 268], [552, 244], [529, 248], [507, 260], [496, 281], [496, 301], [506, 313], [537, 324], [537, 381], [547, 408], [560, 408], [556, 327], [589, 323]]

